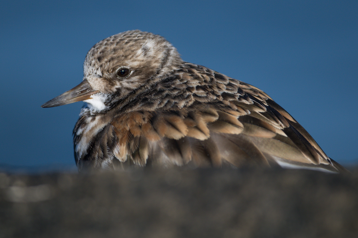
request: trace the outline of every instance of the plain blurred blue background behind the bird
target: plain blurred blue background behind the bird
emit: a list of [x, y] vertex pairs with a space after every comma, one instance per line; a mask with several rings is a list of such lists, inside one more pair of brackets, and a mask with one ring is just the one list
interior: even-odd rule
[[358, 1], [3, 1], [0, 164], [75, 167], [83, 103], [41, 108], [81, 82], [87, 51], [126, 30], [268, 93], [344, 165], [356, 165]]

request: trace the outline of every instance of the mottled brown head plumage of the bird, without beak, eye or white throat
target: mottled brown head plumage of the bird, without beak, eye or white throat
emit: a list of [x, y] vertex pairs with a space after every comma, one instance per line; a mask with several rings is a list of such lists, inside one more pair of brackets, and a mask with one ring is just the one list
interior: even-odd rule
[[[95, 44], [83, 64], [84, 79], [101, 93], [122, 94], [170, 74], [182, 62], [177, 50], [160, 35], [140, 30], [112, 35]], [[131, 74], [118, 78], [116, 72], [125, 67]]]

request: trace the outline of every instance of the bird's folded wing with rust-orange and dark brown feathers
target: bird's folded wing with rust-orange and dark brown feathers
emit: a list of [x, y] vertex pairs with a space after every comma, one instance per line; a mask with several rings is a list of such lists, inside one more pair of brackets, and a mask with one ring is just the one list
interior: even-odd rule
[[[312, 137], [286, 111], [267, 105], [235, 102], [237, 109], [207, 105], [192, 111], [131, 112], [116, 118], [113, 156], [134, 164], [236, 167], [279, 164], [283, 167], [338, 170]], [[114, 133], [113, 133], [114, 132]], [[116, 140], [116, 143], [113, 141]], [[114, 146], [114, 147], [113, 147]], [[102, 146], [105, 148], [105, 146]], [[110, 146], [111, 147], [111, 146]]]

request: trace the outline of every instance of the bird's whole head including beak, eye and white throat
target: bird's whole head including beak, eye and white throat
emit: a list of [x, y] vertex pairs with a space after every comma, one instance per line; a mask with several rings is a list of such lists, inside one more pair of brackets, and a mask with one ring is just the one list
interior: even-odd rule
[[83, 81], [46, 102], [56, 107], [85, 101], [95, 111], [111, 109], [173, 72], [182, 63], [176, 49], [159, 35], [125, 31], [95, 44], [83, 64]]

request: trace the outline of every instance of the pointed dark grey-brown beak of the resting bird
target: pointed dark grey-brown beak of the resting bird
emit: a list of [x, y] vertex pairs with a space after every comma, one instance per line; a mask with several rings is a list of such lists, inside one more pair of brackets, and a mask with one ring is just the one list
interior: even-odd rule
[[41, 107], [57, 107], [73, 102], [87, 100], [91, 98], [92, 94], [99, 92], [100, 91], [91, 88], [87, 80], [83, 80], [82, 83], [78, 84], [76, 87], [51, 99], [50, 101], [44, 103]]

